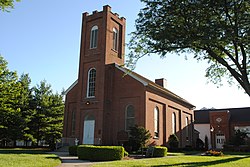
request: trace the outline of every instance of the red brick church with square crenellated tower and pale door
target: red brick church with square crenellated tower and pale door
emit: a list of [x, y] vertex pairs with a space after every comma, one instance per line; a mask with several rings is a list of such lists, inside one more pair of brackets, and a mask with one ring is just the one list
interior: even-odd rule
[[191, 146], [194, 105], [166, 89], [165, 79], [152, 82], [122, 67], [125, 24], [108, 5], [83, 13], [78, 79], [65, 91], [63, 142], [118, 145], [138, 125], [150, 131], [150, 143], [167, 145], [175, 133], [179, 147]]

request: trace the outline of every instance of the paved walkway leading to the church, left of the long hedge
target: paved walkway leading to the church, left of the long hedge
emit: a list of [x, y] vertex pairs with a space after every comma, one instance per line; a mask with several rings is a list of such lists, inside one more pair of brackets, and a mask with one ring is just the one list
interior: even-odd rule
[[[51, 154], [57, 155], [61, 164], [57, 167], [88, 167], [92, 166], [94, 162], [79, 160], [78, 157], [70, 156], [68, 152], [50, 152]], [[95, 162], [96, 163], [96, 162]]]

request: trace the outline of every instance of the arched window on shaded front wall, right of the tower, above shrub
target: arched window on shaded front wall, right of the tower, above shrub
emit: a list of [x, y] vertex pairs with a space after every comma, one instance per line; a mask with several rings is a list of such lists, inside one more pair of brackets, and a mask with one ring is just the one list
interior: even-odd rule
[[130, 127], [135, 126], [135, 109], [133, 105], [128, 105], [125, 111], [125, 130], [129, 131]]

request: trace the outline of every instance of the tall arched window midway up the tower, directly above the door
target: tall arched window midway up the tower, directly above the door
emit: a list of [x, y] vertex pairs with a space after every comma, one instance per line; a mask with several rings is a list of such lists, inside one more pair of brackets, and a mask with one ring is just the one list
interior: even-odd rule
[[95, 97], [96, 69], [91, 68], [88, 72], [87, 97]]

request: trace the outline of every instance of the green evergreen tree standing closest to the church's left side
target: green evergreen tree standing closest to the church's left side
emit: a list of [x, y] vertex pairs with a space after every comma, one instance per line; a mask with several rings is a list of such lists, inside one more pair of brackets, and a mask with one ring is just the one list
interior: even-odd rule
[[53, 149], [56, 140], [62, 137], [62, 95], [53, 94], [51, 86], [46, 81], [41, 81], [40, 85], [33, 88], [31, 106], [33, 114], [29, 127], [37, 140], [37, 145], [41, 141], [46, 141]]

